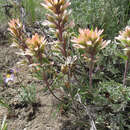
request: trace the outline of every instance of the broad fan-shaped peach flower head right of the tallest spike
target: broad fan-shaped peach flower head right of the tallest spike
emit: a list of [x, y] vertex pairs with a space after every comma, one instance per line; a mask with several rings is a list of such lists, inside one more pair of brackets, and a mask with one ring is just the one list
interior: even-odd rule
[[75, 48], [80, 48], [85, 50], [89, 56], [95, 56], [100, 49], [107, 46], [110, 41], [104, 41], [101, 34], [103, 30], [89, 30], [89, 29], [79, 29], [79, 36], [74, 37], [72, 42]]

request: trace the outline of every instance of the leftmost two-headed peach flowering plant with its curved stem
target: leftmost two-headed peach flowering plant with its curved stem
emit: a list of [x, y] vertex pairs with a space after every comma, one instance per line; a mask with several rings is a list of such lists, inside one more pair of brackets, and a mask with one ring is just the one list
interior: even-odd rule
[[[19, 22], [18, 19], [12, 19], [9, 22], [8, 30], [11, 32], [11, 35], [13, 37], [13, 42], [14, 42], [13, 46], [22, 49], [22, 53], [24, 53], [29, 63], [31, 64], [31, 66], [34, 67], [35, 70], [37, 66], [39, 66], [43, 70], [42, 71], [43, 80], [45, 81], [46, 86], [48, 87], [52, 95], [55, 98], [57, 98], [57, 96], [55, 96], [55, 94], [52, 92], [52, 90], [49, 87], [49, 82], [47, 80], [47, 76], [45, 72], [46, 69], [45, 66], [43, 65], [44, 63], [42, 62], [43, 58], [45, 58], [44, 57], [45, 56], [44, 50], [46, 45], [45, 37], [39, 36], [38, 34], [33, 35], [32, 38], [24, 37], [25, 35], [23, 33], [23, 25]], [[36, 60], [40, 64], [35, 63], [37, 62]], [[60, 100], [59, 98], [57, 99]]]

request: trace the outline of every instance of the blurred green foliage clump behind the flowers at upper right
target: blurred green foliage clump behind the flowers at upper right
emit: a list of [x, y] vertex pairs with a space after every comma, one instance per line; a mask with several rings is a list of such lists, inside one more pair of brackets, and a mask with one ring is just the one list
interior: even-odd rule
[[72, 18], [81, 28], [102, 28], [114, 38], [129, 20], [128, 0], [72, 0]]

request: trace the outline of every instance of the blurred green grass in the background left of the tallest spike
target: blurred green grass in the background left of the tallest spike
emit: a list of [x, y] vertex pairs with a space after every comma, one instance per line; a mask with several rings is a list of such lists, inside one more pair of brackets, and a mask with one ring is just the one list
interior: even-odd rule
[[[36, 20], [41, 20], [45, 18], [45, 9], [40, 5], [43, 0], [23, 0], [21, 5], [23, 5], [26, 16], [25, 21], [27, 23], [34, 23]], [[5, 8], [2, 5], [6, 5], [6, 1], [0, 0], [0, 24], [6, 23], [9, 21], [9, 17], [5, 14]], [[20, 8], [15, 3], [8, 1], [8, 4], [13, 4], [13, 8], [9, 10], [12, 18], [20, 18]]]

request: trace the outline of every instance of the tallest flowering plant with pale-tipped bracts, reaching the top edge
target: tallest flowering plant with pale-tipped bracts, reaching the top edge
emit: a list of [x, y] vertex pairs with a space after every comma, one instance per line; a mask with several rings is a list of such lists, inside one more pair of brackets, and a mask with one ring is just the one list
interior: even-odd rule
[[[54, 32], [57, 41], [53, 42], [55, 45], [52, 47], [52, 51], [60, 52], [63, 56], [63, 60], [65, 59], [65, 63], [61, 66], [61, 72], [65, 75], [67, 75], [67, 81], [65, 81], [65, 86], [71, 86], [70, 85], [70, 79], [71, 79], [71, 72], [75, 58], [70, 58], [69, 55], [69, 33], [67, 30], [69, 28], [72, 28], [74, 26], [73, 21], [69, 21], [69, 16], [71, 14], [71, 10], [68, 11], [67, 8], [71, 3], [69, 0], [44, 0], [44, 3], [41, 5], [44, 6], [50, 13], [46, 15], [47, 20], [44, 22], [44, 25], [48, 25], [51, 30]], [[70, 61], [71, 59], [71, 61]], [[60, 61], [61, 62], [61, 61]], [[63, 61], [64, 62], [64, 61]], [[71, 62], [73, 62], [71, 64]], [[61, 64], [61, 63], [60, 63]], [[69, 89], [69, 94], [71, 96], [72, 102], [73, 96], [72, 96], [72, 90], [71, 87]]]

